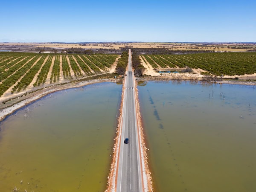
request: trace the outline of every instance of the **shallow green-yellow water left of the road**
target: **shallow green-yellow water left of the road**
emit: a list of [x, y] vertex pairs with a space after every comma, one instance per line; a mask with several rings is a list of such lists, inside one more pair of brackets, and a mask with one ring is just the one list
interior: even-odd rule
[[121, 89], [60, 91], [1, 122], [0, 191], [104, 191]]

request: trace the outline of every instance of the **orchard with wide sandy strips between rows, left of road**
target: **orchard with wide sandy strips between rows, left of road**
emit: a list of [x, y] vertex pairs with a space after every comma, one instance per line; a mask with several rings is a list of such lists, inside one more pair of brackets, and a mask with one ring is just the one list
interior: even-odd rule
[[44, 84], [108, 73], [118, 55], [0, 52], [0, 96]]

